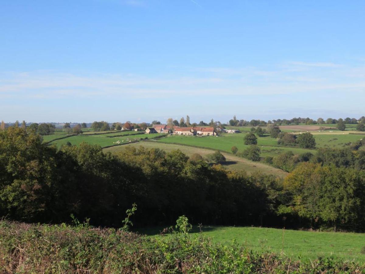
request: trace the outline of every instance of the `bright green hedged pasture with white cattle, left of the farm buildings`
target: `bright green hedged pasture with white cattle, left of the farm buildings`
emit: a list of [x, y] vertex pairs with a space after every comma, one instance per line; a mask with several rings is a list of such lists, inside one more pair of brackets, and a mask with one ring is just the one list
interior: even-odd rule
[[110, 134], [100, 134], [100, 135], [87, 135], [87, 134], [80, 134], [77, 136], [71, 136], [61, 140], [55, 140], [50, 142], [50, 145], [56, 145], [60, 147], [65, 145], [67, 142], [70, 142], [72, 145], [78, 145], [81, 142], [87, 142], [92, 145], [100, 145], [101, 147], [104, 146], [111, 146], [115, 145], [114, 142], [120, 141], [121, 144], [125, 144], [129, 141], [133, 142], [135, 140], [140, 140], [141, 138], [153, 138], [156, 136], [161, 135], [160, 133], [154, 134], [141, 134], [141, 135], [132, 135], [132, 136], [120, 136], [120, 137], [108, 137]]

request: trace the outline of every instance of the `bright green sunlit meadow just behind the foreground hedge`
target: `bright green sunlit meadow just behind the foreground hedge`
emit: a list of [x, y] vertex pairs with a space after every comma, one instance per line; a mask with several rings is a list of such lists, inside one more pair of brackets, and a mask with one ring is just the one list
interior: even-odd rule
[[[284, 252], [290, 258], [313, 260], [318, 256], [333, 256], [365, 264], [364, 233], [310, 232], [257, 227], [203, 227], [203, 233], [217, 243], [238, 243], [254, 251]], [[141, 229], [139, 233], [159, 235], [162, 228]], [[193, 229], [193, 234], [199, 229]]]

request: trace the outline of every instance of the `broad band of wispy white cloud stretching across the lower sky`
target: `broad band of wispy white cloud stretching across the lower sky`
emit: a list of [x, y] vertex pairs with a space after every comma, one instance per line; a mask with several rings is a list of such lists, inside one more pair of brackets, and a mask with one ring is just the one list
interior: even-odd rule
[[[297, 63], [297, 62], [293, 62]], [[299, 62], [301, 63], [301, 62]], [[329, 63], [318, 63], [329, 64]], [[291, 66], [297, 66], [292, 64]], [[181, 96], [245, 96], [330, 94], [364, 95], [365, 67], [288, 65], [246, 68], [187, 69], [179, 76], [59, 73], [49, 71], [2, 73], [0, 95], [7, 98], [176, 98]], [[183, 75], [183, 76], [181, 76]]]

